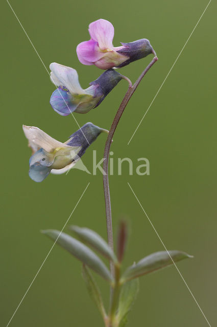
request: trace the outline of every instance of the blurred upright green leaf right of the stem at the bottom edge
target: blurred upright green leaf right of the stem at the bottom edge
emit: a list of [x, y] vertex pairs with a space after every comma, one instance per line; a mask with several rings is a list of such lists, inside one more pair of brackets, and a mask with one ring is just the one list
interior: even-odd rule
[[125, 326], [127, 323], [127, 314], [132, 308], [132, 305], [136, 299], [139, 291], [138, 278], [132, 281], [126, 282], [120, 292], [119, 305], [117, 312], [118, 326]]

